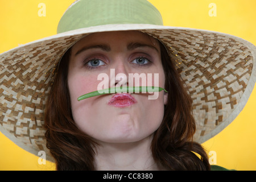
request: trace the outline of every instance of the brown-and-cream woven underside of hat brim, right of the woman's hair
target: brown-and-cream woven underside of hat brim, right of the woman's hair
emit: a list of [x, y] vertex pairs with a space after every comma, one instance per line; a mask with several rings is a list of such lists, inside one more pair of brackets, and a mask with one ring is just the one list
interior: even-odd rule
[[[170, 57], [193, 100], [197, 124], [194, 139], [203, 143], [228, 126], [245, 106], [255, 84], [255, 47], [250, 51], [238, 40], [212, 32], [159, 34], [151, 33], [166, 40], [170, 48]], [[246, 87], [249, 92], [245, 92]]]

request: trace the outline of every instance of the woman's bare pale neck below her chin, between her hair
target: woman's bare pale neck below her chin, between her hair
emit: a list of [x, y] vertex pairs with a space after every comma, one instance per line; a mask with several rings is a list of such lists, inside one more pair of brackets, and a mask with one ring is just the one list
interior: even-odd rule
[[151, 154], [152, 137], [131, 143], [98, 142], [95, 164], [97, 170], [159, 170]]

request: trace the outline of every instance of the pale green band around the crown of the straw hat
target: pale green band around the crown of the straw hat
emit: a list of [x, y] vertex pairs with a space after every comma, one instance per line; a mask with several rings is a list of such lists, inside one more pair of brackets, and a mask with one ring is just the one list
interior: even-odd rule
[[146, 0], [80, 0], [61, 17], [57, 33], [104, 24], [163, 25], [163, 20]]

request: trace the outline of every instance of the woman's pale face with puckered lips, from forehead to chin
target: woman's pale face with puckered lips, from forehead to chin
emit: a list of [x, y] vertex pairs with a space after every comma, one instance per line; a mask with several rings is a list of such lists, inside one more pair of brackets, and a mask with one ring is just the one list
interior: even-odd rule
[[[146, 77], [151, 73], [152, 83], [148, 79], [146, 83], [142, 79], [139, 84], [138, 80], [132, 83], [129, 73], [143, 73], [141, 76]], [[154, 73], [158, 73], [157, 80]], [[123, 86], [164, 88], [164, 79], [159, 43], [151, 36], [138, 31], [90, 34], [72, 47], [69, 60], [73, 119], [80, 130], [102, 142], [135, 142], [146, 138], [162, 122], [167, 102], [164, 92], [159, 92], [153, 100], [148, 99], [148, 94], [133, 93], [104, 94], [82, 101], [77, 98], [96, 91], [103, 82], [108, 87], [119, 82]]]

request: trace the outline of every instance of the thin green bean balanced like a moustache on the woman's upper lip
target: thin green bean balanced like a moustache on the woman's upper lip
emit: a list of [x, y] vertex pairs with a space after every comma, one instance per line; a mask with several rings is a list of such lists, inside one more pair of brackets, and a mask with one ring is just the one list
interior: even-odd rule
[[164, 90], [164, 92], [167, 92], [166, 89], [157, 87], [157, 86], [124, 86], [121, 87], [112, 87], [108, 89], [102, 89], [97, 90], [94, 92], [86, 93], [79, 98], [77, 98], [78, 101], [84, 100], [85, 98], [90, 98], [94, 96], [100, 96], [103, 94], [110, 94], [110, 93], [147, 93], [147, 92], [160, 92]]

